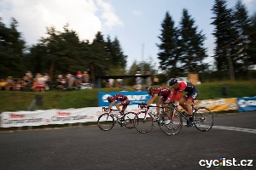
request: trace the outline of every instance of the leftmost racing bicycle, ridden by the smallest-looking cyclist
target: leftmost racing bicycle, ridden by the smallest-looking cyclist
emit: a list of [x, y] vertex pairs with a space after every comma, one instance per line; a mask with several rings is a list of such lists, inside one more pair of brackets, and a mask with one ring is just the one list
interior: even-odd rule
[[[119, 110], [110, 109], [106, 112], [105, 107], [102, 107], [101, 116], [98, 117], [97, 125], [103, 131], [108, 131], [113, 128], [115, 122], [119, 123], [120, 127], [134, 128], [136, 124], [134, 123], [135, 117], [137, 117], [134, 112], [126, 112], [123, 116], [120, 115]], [[124, 118], [124, 119], [122, 119]]]

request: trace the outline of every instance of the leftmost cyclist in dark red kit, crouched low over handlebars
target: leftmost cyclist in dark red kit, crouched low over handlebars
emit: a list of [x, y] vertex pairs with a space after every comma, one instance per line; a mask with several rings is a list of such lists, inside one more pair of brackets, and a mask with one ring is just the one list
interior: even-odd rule
[[[127, 98], [127, 96], [123, 94], [115, 94], [113, 96], [108, 96], [108, 102], [110, 103], [110, 105], [108, 105], [108, 109], [106, 110], [107, 112], [110, 111], [110, 109], [113, 107], [113, 104], [116, 101], [119, 101], [115, 106], [119, 110], [119, 113], [120, 113], [119, 118], [121, 122], [123, 122], [125, 121], [123, 117], [125, 113], [125, 109], [127, 108], [127, 105], [130, 104], [130, 100]], [[121, 105], [122, 105], [122, 109], [120, 108]]]

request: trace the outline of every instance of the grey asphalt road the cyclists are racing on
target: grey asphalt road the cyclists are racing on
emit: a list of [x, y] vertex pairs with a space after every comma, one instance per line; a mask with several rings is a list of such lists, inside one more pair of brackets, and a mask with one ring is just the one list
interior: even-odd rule
[[255, 122], [250, 111], [214, 115], [209, 132], [183, 126], [174, 136], [156, 123], [145, 134], [117, 124], [108, 132], [87, 126], [0, 133], [0, 169], [256, 169]]

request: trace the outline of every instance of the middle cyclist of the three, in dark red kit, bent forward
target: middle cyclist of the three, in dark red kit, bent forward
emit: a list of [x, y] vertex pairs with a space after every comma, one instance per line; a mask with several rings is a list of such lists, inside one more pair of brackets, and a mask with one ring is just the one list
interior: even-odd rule
[[151, 95], [150, 99], [148, 99], [147, 101], [147, 105], [145, 105], [145, 107], [148, 107], [149, 105], [151, 105], [154, 100], [160, 96], [160, 99], [156, 102], [156, 106], [158, 106], [156, 108], [156, 113], [157, 116], [159, 116], [160, 114], [160, 105], [164, 105], [165, 109], [166, 109], [166, 113], [168, 116], [168, 119], [166, 120], [166, 124], [171, 122], [171, 116], [170, 116], [170, 111], [167, 109], [167, 107], [169, 106], [169, 103], [171, 101], [171, 96], [172, 96], [172, 90], [170, 88], [166, 88], [166, 87], [160, 87], [160, 88], [152, 88], [149, 87], [148, 88], [148, 94]]

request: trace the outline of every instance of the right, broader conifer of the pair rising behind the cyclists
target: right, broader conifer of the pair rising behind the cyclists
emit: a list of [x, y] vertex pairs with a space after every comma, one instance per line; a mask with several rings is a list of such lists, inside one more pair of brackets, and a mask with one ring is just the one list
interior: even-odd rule
[[197, 31], [195, 20], [191, 18], [187, 9], [183, 9], [183, 16], [179, 26], [178, 48], [181, 69], [184, 72], [202, 72], [208, 67], [203, 63], [203, 59], [207, 57], [204, 48], [204, 41], [206, 39], [202, 31]]

